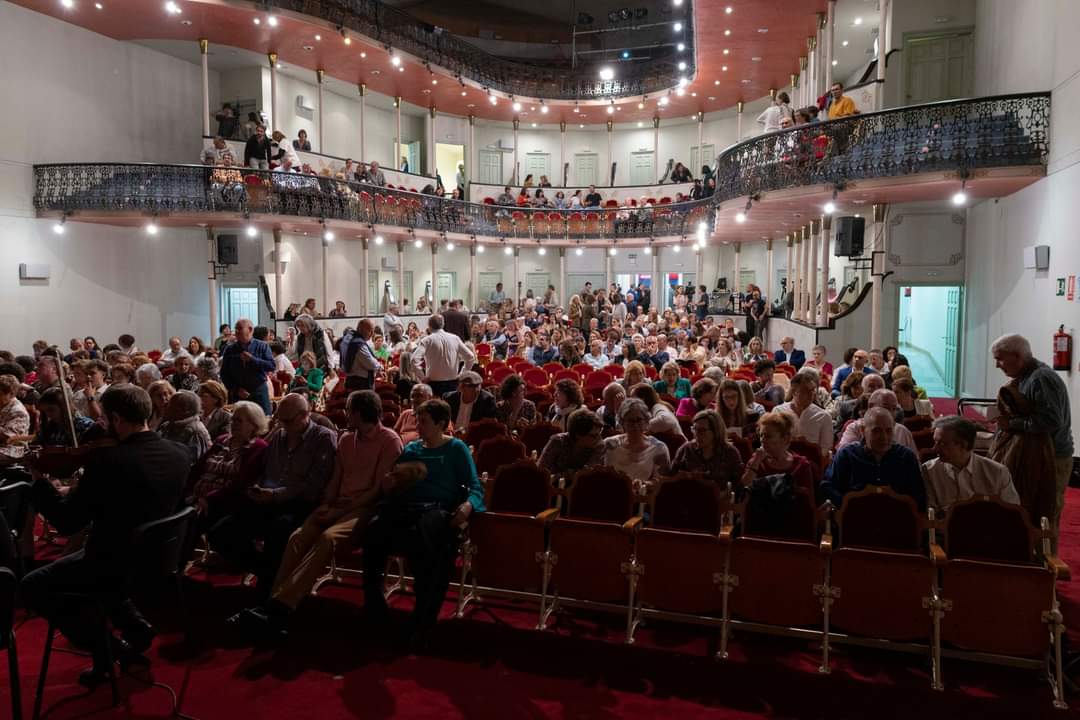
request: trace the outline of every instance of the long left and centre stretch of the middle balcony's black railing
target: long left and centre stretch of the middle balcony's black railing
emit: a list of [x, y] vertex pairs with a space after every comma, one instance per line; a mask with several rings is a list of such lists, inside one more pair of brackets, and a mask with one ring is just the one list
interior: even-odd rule
[[503, 207], [397, 188], [244, 167], [80, 163], [35, 166], [41, 212], [240, 213], [525, 240], [616, 240], [691, 234], [712, 203], [653, 207]]

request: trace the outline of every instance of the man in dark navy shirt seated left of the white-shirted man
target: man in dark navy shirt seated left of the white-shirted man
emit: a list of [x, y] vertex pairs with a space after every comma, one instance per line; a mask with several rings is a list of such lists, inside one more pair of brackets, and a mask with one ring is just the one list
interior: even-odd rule
[[840, 448], [825, 472], [822, 492], [840, 507], [843, 495], [872, 485], [887, 485], [909, 495], [919, 510], [927, 506], [926, 488], [918, 457], [893, 437], [893, 413], [883, 407], [870, 408], [862, 420], [863, 441]]

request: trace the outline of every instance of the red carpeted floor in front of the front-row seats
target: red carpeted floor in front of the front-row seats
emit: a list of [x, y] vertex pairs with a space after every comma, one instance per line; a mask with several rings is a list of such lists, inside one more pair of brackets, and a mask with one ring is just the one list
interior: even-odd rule
[[[1069, 490], [1062, 556], [1080, 568], [1080, 490]], [[578, 611], [546, 633], [530, 607], [485, 604], [444, 620], [431, 649], [394, 650], [393, 628], [362, 622], [356, 587], [324, 589], [305, 602], [288, 640], [252, 649], [225, 619], [251, 603], [239, 579], [188, 584], [193, 629], [175, 612], [148, 608], [162, 629], [151, 670], [121, 680], [123, 705], [76, 682], [87, 660], [54, 653], [45, 688], [49, 718], [161, 718], [170, 685], [187, 716], [213, 718], [983, 718], [1065, 717], [1032, 670], [947, 661], [946, 690], [929, 688], [922, 657], [837, 648], [833, 673], [818, 673], [818, 648], [786, 638], [738, 635], [731, 658], [712, 658], [714, 634], [650, 625], [622, 644], [622, 619]], [[1074, 647], [1080, 647], [1080, 580], [1058, 585]], [[404, 610], [407, 598], [396, 603]], [[450, 613], [450, 606], [444, 615]], [[24, 707], [29, 717], [45, 624], [18, 628]], [[63, 641], [58, 641], [63, 644]], [[0, 718], [8, 717], [6, 687]], [[1072, 698], [1080, 707], [1080, 698]], [[1072, 712], [1070, 710], [1070, 712]]]

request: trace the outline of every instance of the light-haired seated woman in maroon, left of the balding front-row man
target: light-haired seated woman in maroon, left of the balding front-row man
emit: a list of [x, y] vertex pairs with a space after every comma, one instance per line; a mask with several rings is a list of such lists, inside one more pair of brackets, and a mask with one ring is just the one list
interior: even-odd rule
[[229, 416], [229, 426], [191, 468], [186, 498], [198, 512], [198, 534], [237, 512], [245, 490], [259, 481], [267, 447], [262, 436], [269, 426], [262, 408], [248, 400], [238, 402]]

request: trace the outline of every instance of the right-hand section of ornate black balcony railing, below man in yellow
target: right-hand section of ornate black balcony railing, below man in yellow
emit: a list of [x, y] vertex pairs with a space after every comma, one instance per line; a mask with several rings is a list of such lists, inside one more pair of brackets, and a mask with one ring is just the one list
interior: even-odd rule
[[808, 185], [1044, 164], [1050, 93], [946, 100], [760, 135], [717, 158], [716, 202]]

